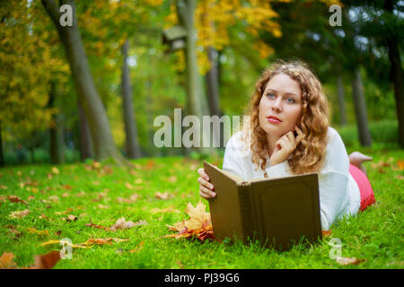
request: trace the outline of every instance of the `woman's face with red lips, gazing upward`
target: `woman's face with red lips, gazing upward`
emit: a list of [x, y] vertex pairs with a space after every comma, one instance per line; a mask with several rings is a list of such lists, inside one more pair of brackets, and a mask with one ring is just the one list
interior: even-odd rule
[[287, 74], [277, 74], [269, 80], [259, 101], [259, 125], [268, 135], [279, 138], [294, 132], [302, 109], [299, 83]]

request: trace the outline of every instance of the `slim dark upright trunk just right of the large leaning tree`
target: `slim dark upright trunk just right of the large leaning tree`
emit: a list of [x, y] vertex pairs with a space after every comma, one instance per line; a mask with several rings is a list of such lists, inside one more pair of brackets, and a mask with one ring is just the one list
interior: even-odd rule
[[127, 65], [128, 48], [129, 43], [126, 40], [122, 47], [122, 104], [125, 123], [127, 157], [129, 159], [137, 159], [140, 158], [141, 153], [140, 146], [137, 141], [137, 128], [133, 110], [132, 88], [130, 86], [129, 66]]

